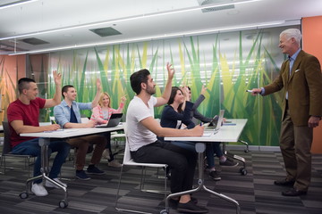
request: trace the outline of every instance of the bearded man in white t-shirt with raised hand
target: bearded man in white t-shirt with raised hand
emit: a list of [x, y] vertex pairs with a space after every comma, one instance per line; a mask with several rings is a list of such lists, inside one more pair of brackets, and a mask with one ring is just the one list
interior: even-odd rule
[[[157, 136], [202, 136], [203, 128], [162, 128], [154, 119], [154, 107], [169, 100], [174, 78], [174, 69], [167, 63], [168, 80], [161, 97], [154, 97], [156, 83], [148, 70], [139, 70], [131, 75], [131, 87], [136, 96], [131, 100], [126, 114], [126, 126], [131, 157], [136, 162], [163, 163], [171, 168], [171, 192], [191, 190], [196, 168], [196, 152], [185, 150], [174, 144], [157, 141]], [[172, 199], [179, 212], [207, 213], [208, 209], [196, 205], [190, 194]]]

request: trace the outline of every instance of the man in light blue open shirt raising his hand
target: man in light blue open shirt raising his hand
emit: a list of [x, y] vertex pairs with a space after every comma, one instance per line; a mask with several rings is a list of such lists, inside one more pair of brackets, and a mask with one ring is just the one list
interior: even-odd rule
[[[101, 83], [97, 79], [97, 94], [92, 103], [76, 103], [76, 89], [73, 86], [64, 86], [62, 89], [62, 95], [64, 100], [54, 108], [54, 115], [56, 122], [62, 128], [94, 128], [95, 121], [89, 120], [87, 123], [81, 123], [80, 110], [91, 110], [97, 106], [99, 95], [101, 93]], [[67, 141], [73, 147], [77, 148], [76, 152], [76, 177], [81, 180], [89, 180], [90, 177], [87, 174], [103, 175], [104, 171], [97, 169], [95, 164], [99, 163], [102, 157], [102, 153], [106, 148], [106, 137], [99, 135], [92, 136], [80, 136], [71, 138]], [[92, 158], [87, 169], [87, 174], [83, 170], [86, 153], [89, 149], [89, 144], [96, 144]]]

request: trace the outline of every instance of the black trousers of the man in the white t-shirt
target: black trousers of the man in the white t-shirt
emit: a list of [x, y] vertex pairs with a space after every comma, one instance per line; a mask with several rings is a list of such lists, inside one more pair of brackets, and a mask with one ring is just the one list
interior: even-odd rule
[[171, 192], [191, 190], [196, 169], [197, 153], [174, 144], [157, 141], [131, 152], [136, 162], [162, 163], [171, 168]]

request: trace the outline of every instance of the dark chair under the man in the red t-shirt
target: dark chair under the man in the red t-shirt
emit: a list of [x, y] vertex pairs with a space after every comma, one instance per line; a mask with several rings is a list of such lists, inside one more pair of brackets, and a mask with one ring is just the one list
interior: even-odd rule
[[[3, 121], [3, 127], [4, 127], [4, 147], [2, 151], [2, 156], [1, 156], [1, 164], [0, 166], [4, 166], [4, 174], [5, 170], [7, 169], [6, 166], [6, 157], [11, 157], [11, 158], [22, 158], [24, 159], [24, 170], [28, 168], [28, 177], [30, 177], [30, 159], [33, 159], [35, 161], [35, 156], [32, 155], [22, 155], [22, 154], [13, 154], [12, 153], [12, 146], [10, 142], [10, 128], [9, 128], [9, 123], [7, 121]], [[15, 169], [15, 168], [9, 168], [9, 169]]]

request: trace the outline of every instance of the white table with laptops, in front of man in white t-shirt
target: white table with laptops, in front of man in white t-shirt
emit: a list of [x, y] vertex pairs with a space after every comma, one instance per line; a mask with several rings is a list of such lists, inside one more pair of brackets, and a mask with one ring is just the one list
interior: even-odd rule
[[165, 137], [165, 141], [193, 141], [196, 143], [196, 151], [198, 152], [199, 157], [199, 179], [198, 179], [198, 187], [189, 191], [185, 191], [182, 193], [172, 193], [169, 194], [166, 197], [165, 201], [165, 212], [168, 213], [169, 206], [168, 202], [169, 199], [172, 197], [177, 197], [182, 194], [188, 194], [188, 193], [195, 193], [199, 190], [203, 189], [207, 191], [208, 193], [214, 194], [219, 198], [224, 199], [225, 201], [232, 202], [236, 206], [236, 213], [241, 213], [241, 207], [239, 203], [232, 198], [226, 196], [222, 193], [216, 193], [215, 191], [212, 191], [204, 185], [204, 152], [206, 150], [205, 143], [209, 142], [237, 142], [239, 140], [239, 137], [242, 134], [242, 129], [245, 127], [247, 119], [227, 119], [231, 121], [231, 123], [228, 123], [225, 126], [222, 126], [219, 131], [216, 134], [212, 134], [210, 136], [182, 136], [182, 137]]

